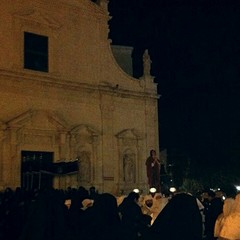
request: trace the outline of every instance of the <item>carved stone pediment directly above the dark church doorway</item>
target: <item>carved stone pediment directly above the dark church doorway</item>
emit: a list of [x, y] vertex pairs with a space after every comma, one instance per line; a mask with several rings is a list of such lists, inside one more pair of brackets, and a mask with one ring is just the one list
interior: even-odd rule
[[67, 131], [66, 123], [53, 112], [35, 110], [27, 111], [10, 120], [11, 128]]

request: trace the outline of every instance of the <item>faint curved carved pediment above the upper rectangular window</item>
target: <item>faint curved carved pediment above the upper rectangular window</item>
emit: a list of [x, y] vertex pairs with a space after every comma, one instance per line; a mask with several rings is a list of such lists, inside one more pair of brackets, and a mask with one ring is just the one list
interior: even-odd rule
[[20, 12], [14, 13], [13, 15], [14, 17], [20, 18], [22, 20], [43, 24], [52, 29], [59, 29], [61, 27], [61, 24], [57, 20], [42, 10], [24, 9]]

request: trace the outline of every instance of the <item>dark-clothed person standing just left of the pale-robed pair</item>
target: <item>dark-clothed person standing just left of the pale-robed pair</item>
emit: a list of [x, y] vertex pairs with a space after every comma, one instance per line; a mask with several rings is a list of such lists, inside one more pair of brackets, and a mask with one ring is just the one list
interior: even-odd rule
[[204, 215], [205, 215], [205, 239], [214, 240], [214, 227], [215, 222], [219, 214], [223, 211], [222, 198], [216, 197], [215, 192], [209, 190], [207, 192], [207, 204], [205, 204]]

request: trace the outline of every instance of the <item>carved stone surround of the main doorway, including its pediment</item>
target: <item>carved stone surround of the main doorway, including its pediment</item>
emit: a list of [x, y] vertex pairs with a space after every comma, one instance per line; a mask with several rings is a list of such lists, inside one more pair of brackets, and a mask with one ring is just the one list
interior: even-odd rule
[[9, 178], [7, 181], [20, 184], [22, 151], [53, 152], [54, 157], [58, 159], [62, 147], [61, 135], [67, 133], [67, 128], [55, 114], [44, 110], [30, 110], [6, 124], [9, 137], [6, 138], [5, 144], [11, 146], [9, 149], [11, 163], [8, 168], [11, 167], [13, 172], [12, 176], [7, 175]]

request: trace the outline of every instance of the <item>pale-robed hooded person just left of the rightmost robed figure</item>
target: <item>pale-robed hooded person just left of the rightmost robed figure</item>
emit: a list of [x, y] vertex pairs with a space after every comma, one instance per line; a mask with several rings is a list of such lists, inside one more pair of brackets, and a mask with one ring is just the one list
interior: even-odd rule
[[214, 237], [221, 240], [220, 232], [222, 231], [222, 227], [224, 225], [225, 219], [230, 215], [234, 206], [233, 198], [226, 198], [223, 203], [223, 212], [218, 215], [217, 220], [215, 222], [214, 227]]

